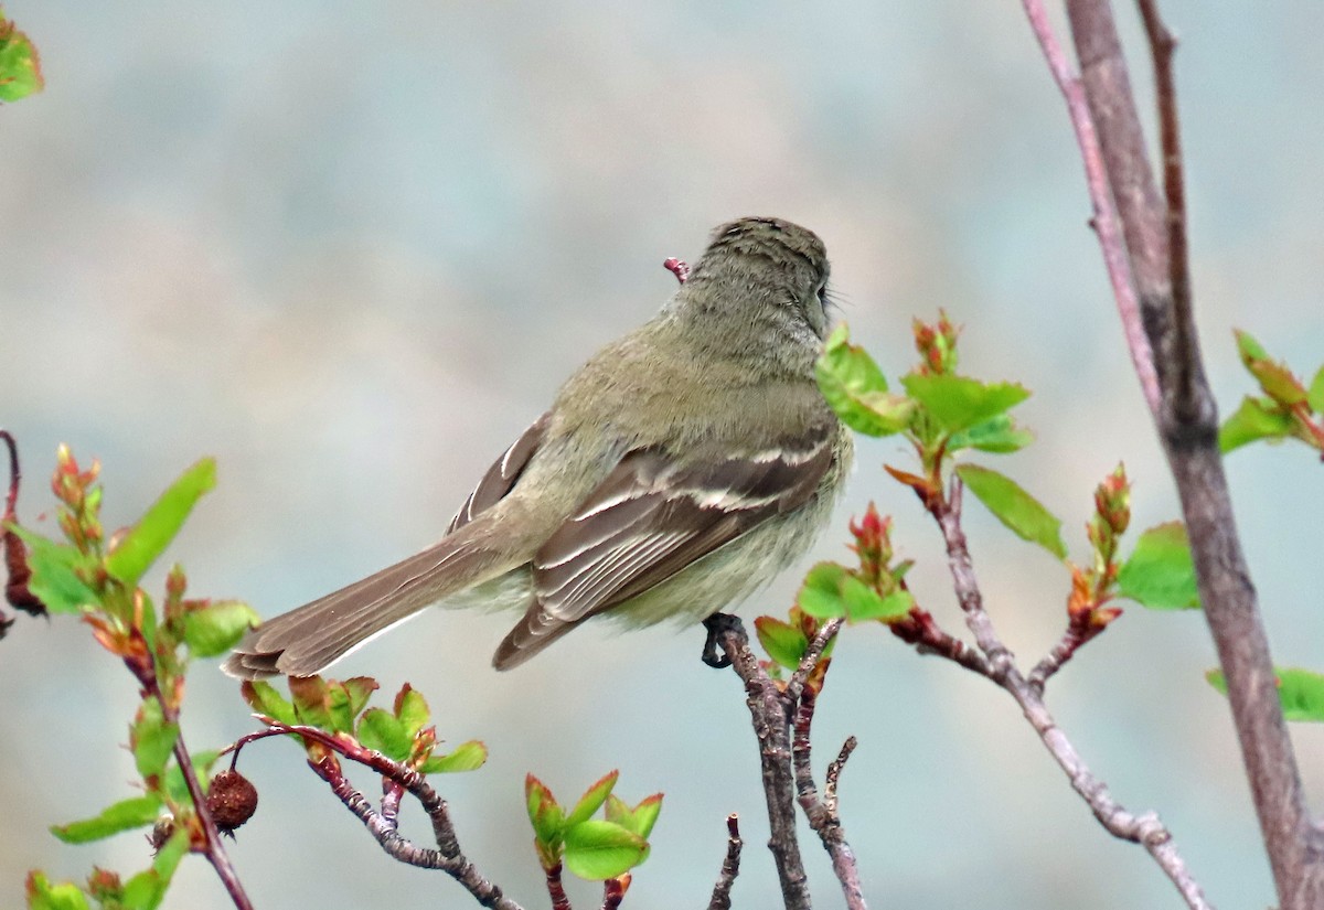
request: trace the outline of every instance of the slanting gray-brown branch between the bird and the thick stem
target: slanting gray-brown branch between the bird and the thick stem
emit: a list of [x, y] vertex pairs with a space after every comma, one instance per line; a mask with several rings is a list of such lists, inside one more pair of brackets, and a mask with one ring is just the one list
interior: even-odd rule
[[1090, 771], [1084, 759], [1075, 750], [1075, 746], [1058, 727], [1057, 721], [1043, 702], [1041, 690], [1021, 675], [1016, 660], [1012, 657], [1012, 652], [1002, 644], [993, 627], [993, 620], [984, 608], [984, 595], [980, 593], [965, 532], [961, 529], [960, 504], [961, 484], [960, 480], [953, 480], [951, 496], [935, 497], [929, 512], [943, 532], [943, 541], [947, 545], [947, 562], [952, 571], [957, 600], [960, 600], [961, 610], [965, 612], [965, 622], [970, 627], [970, 631], [974, 632], [980, 648], [993, 667], [993, 673], [989, 679], [1006, 689], [1008, 694], [1021, 706], [1025, 720], [1034, 727], [1045, 749], [1053, 755], [1054, 761], [1071, 782], [1071, 787], [1080, 794], [1080, 798], [1104, 829], [1115, 837], [1144, 847], [1168, 878], [1172, 880], [1172, 884], [1181, 893], [1182, 899], [1190, 910], [1210, 910], [1204, 891], [1194, 878], [1192, 878], [1185, 861], [1177, 852], [1172, 833], [1162, 825], [1158, 816], [1153, 812], [1132, 815], [1112, 798], [1107, 784]]

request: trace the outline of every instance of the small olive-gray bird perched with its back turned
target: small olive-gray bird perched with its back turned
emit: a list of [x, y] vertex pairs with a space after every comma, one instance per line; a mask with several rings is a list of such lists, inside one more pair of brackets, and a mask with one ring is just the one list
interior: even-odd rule
[[718, 227], [686, 283], [602, 348], [489, 468], [446, 536], [269, 619], [225, 661], [311, 676], [424, 607], [511, 607], [493, 665], [524, 663], [589, 616], [695, 622], [797, 559], [851, 460], [814, 362], [828, 254], [805, 227]]

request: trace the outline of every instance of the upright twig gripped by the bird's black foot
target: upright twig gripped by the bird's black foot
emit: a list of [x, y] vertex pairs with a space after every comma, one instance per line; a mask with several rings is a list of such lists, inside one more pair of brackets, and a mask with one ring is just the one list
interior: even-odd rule
[[759, 762], [763, 766], [763, 792], [768, 802], [768, 827], [772, 850], [781, 881], [781, 898], [786, 910], [809, 910], [809, 885], [796, 841], [794, 778], [790, 770], [790, 738], [786, 702], [759, 660], [749, 649], [744, 624], [727, 614], [714, 614], [703, 620], [711, 638], [716, 638], [727, 660], [745, 686], [745, 704], [759, 738]]

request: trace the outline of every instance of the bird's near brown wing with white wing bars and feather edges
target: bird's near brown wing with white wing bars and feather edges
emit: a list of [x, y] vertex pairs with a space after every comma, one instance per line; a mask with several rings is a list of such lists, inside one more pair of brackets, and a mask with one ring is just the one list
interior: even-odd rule
[[678, 462], [629, 452], [534, 557], [535, 603], [496, 651], [498, 668], [571, 626], [671, 578], [759, 522], [804, 505], [833, 462], [814, 434], [757, 452]]

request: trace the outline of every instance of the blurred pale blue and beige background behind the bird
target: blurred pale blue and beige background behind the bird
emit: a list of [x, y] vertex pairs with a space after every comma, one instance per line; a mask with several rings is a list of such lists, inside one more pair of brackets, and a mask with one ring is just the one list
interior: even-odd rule
[[[1250, 389], [1231, 327], [1299, 372], [1324, 353], [1324, 7], [1162, 4], [1178, 81], [1200, 325], [1223, 413]], [[1124, 460], [1137, 528], [1177, 515], [1132, 377], [1061, 99], [1018, 4], [156, 4], [11, 0], [48, 90], [0, 110], [0, 423], [19, 438], [23, 518], [52, 530], [56, 446], [99, 458], [106, 524], [185, 466], [220, 463], [169, 557], [197, 595], [273, 615], [432, 542], [491, 459], [606, 340], [674, 290], [669, 255], [777, 214], [817, 230], [843, 317], [888, 376], [912, 316], [965, 325], [963, 369], [1023, 381], [1039, 442], [990, 456], [1066, 521], [1076, 558], [1094, 484]], [[1148, 58], [1129, 4], [1132, 77]], [[1152, 135], [1152, 132], [1151, 132]], [[863, 442], [817, 558], [846, 558], [870, 499], [896, 517], [920, 600], [961, 622], [936, 530]], [[1324, 667], [1324, 477], [1304, 448], [1229, 460], [1282, 664]], [[1066, 573], [969, 509], [993, 616], [1022, 660], [1057, 639]], [[745, 615], [782, 612], [809, 565]], [[152, 575], [159, 590], [162, 570]], [[336, 667], [387, 696], [409, 680], [440, 734], [482, 738], [441, 782], [469, 856], [526, 906], [545, 894], [526, 771], [563, 799], [621, 768], [666, 792], [626, 906], [703, 906], [736, 811], [736, 906], [777, 903], [755, 739], [703, 634], [588, 627], [511, 673], [511, 618], [433, 611]], [[1055, 679], [1063, 729], [1128, 808], [1156, 809], [1219, 906], [1272, 902], [1226, 704], [1204, 681], [1198, 614], [1139, 607]], [[189, 679], [195, 749], [254, 727], [214, 667]], [[146, 865], [138, 835], [65, 847], [46, 825], [131, 795], [118, 743], [130, 676], [69, 619], [0, 644], [0, 905], [24, 872]], [[878, 906], [1176, 907], [1145, 853], [1112, 840], [1001, 692], [882, 628], [853, 628], [820, 702], [817, 765], [849, 734], [847, 835]], [[1316, 808], [1324, 738], [1296, 729]], [[246, 753], [261, 811], [232, 853], [260, 907], [473, 906], [399, 866], [283, 741]], [[371, 790], [372, 780], [361, 786]], [[405, 832], [426, 841], [420, 816]], [[839, 891], [812, 835], [814, 894]], [[572, 898], [598, 891], [572, 882]], [[185, 862], [168, 901], [229, 906]]]

